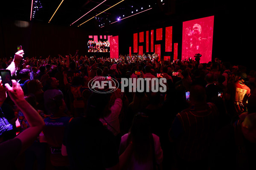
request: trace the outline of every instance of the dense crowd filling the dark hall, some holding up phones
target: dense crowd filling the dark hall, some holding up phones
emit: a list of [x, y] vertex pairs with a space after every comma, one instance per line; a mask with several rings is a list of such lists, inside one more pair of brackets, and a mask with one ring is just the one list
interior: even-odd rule
[[[0, 60], [12, 73], [12, 86], [0, 84], [3, 169], [255, 169], [254, 70], [157, 54], [23, 55]], [[166, 92], [98, 94], [88, 85], [157, 74]]]

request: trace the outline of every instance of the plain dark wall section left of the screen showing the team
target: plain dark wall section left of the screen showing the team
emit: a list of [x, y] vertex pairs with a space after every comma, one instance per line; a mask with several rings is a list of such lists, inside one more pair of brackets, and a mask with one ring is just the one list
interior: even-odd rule
[[74, 55], [76, 50], [85, 55], [88, 36], [103, 34], [100, 31], [87, 31], [86, 28], [3, 19], [0, 26], [0, 54], [1, 57], [11, 57], [17, 51], [17, 45], [22, 45], [28, 57]]

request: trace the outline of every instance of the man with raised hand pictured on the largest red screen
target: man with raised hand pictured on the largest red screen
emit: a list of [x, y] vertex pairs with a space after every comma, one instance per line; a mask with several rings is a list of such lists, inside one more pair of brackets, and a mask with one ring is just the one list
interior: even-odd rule
[[207, 50], [209, 39], [207, 37], [202, 37], [202, 27], [200, 24], [195, 23], [193, 30], [190, 28], [185, 29], [186, 32], [186, 46], [189, 54], [202, 54], [203, 57], [207, 57]]

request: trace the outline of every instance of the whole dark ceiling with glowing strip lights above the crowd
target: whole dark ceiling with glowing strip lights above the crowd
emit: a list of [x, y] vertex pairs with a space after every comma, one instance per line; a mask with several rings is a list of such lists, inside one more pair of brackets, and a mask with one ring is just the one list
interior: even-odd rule
[[[35, 2], [36, 0], [33, 1]], [[214, 15], [219, 11], [226, 14], [238, 11], [236, 14], [241, 14], [243, 11], [247, 12], [244, 6], [250, 6], [231, 0], [63, 0], [63, 3], [58, 8], [62, 0], [39, 1], [42, 8], [38, 8], [35, 18], [32, 18], [32, 22], [58, 26], [70, 26], [88, 11], [105, 1], [72, 25], [72, 27], [77, 27], [93, 17], [93, 19], [82, 24], [80, 27], [92, 30], [96, 29], [97, 31], [100, 29], [107, 31], [107, 29], [113, 29], [120, 25], [124, 27], [141, 27], [144, 25], [146, 27], [148, 24], [163, 23], [165, 20], [169, 20], [170, 22], [170, 20], [177, 18], [180, 18], [180, 20], [196, 19], [198, 16], [204, 17], [202, 14], [206, 17]], [[120, 1], [122, 2], [119, 3]], [[32, 0], [8, 0], [1, 1], [1, 3], [1, 17], [30, 21]], [[119, 4], [110, 8], [116, 3]], [[48, 23], [57, 8], [58, 11], [50, 23]], [[152, 9], [122, 20], [122, 18], [149, 8]], [[108, 10], [105, 11], [106, 9]], [[102, 11], [105, 12], [99, 14]], [[95, 17], [97, 14], [99, 15]], [[118, 17], [120, 17], [121, 21], [113, 23]]]

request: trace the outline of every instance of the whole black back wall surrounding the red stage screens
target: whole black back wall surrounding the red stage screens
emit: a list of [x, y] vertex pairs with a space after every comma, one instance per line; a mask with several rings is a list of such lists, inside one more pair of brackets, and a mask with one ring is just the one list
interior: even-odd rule
[[[182, 22], [214, 15], [212, 58], [218, 57], [222, 61], [230, 61], [234, 65], [246, 65], [248, 68], [253, 68], [256, 35], [253, 27], [253, 6], [220, 0], [211, 1], [208, 8], [203, 6], [195, 8], [194, 6], [176, 3], [175, 11], [168, 14], [163, 9], [155, 8], [154, 11], [146, 12], [145, 16], [147, 17], [143, 19], [140, 19], [139, 14], [95, 30], [89, 30], [86, 27], [74, 28], [36, 22], [30, 22], [28, 27], [20, 28], [15, 26], [14, 20], [4, 18], [0, 23], [0, 56], [13, 56], [17, 45], [22, 45], [29, 57], [73, 55], [77, 49], [79, 49], [80, 55], [84, 55], [87, 54], [88, 35], [106, 34], [119, 35], [119, 54], [128, 54], [129, 46], [133, 47], [134, 33], [173, 26], [172, 42], [178, 42], [179, 58]], [[164, 46], [164, 42], [162, 43]]]

